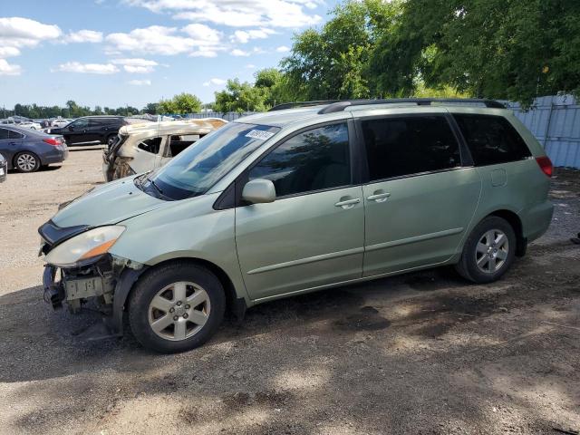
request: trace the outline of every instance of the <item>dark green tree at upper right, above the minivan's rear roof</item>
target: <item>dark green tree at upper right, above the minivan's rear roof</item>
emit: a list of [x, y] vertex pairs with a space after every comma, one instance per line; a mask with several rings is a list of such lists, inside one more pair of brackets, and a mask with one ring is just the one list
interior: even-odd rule
[[417, 78], [478, 97], [528, 104], [580, 88], [580, 2], [407, 0], [372, 53], [380, 92]]

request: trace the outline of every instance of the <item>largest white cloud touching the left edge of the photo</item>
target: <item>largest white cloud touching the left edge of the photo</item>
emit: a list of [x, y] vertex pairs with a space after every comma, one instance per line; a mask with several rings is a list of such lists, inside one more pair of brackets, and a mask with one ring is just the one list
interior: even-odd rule
[[61, 34], [58, 25], [43, 24], [18, 16], [0, 18], [0, 47], [35, 47]]

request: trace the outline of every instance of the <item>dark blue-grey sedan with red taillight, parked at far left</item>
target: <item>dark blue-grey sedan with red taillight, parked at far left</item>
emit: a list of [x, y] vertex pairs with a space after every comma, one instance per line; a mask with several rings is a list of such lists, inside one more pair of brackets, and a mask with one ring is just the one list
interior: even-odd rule
[[0, 154], [5, 157], [7, 169], [34, 172], [42, 166], [66, 160], [69, 151], [60, 136], [0, 125]]

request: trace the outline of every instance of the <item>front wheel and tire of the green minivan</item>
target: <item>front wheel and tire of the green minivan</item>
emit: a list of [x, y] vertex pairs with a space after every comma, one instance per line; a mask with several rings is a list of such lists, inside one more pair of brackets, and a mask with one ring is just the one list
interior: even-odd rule
[[176, 261], [146, 273], [131, 293], [129, 323], [137, 340], [160, 353], [189, 351], [216, 333], [224, 288], [205, 267]]

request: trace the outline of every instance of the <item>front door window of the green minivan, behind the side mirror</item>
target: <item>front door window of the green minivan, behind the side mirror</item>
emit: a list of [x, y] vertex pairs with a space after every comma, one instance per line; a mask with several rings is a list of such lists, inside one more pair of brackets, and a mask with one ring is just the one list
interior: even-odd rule
[[350, 184], [346, 123], [304, 131], [286, 140], [250, 170], [249, 179], [271, 179], [277, 197]]

